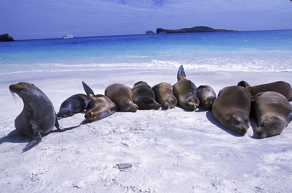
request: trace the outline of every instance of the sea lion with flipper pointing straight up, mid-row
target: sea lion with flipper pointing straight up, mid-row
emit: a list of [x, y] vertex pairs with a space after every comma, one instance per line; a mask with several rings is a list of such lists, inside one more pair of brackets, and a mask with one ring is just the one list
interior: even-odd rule
[[195, 110], [199, 106], [199, 99], [196, 97], [197, 87], [190, 81], [185, 79], [185, 71], [183, 65], [178, 69], [178, 82], [173, 85], [173, 93], [178, 104], [186, 109]]

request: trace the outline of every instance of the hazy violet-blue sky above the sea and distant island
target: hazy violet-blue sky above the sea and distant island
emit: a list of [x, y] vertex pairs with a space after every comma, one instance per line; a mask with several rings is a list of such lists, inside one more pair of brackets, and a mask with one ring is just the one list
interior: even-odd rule
[[144, 34], [207, 26], [292, 29], [290, 0], [0, 0], [0, 34], [15, 40]]

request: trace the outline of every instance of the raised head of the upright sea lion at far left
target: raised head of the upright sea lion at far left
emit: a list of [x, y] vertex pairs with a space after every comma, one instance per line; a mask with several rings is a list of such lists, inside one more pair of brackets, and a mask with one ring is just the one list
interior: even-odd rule
[[14, 96], [15, 94], [18, 94], [18, 96], [20, 98], [29, 98], [29, 96], [32, 96], [34, 94], [34, 90], [37, 87], [34, 86], [34, 84], [30, 84], [30, 83], [17, 83], [14, 85], [10, 85], [9, 86], [9, 90], [11, 92], [11, 94]]

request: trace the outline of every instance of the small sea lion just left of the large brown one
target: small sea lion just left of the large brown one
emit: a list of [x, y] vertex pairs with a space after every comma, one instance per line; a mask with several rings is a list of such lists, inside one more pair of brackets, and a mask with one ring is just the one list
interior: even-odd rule
[[201, 85], [197, 89], [196, 97], [199, 99], [199, 106], [204, 108], [212, 108], [216, 99], [216, 93], [212, 87]]

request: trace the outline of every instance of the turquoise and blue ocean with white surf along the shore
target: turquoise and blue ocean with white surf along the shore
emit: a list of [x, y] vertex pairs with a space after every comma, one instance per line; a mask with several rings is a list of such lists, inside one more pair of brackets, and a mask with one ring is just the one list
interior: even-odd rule
[[292, 30], [0, 42], [0, 81], [140, 72], [292, 71]]

